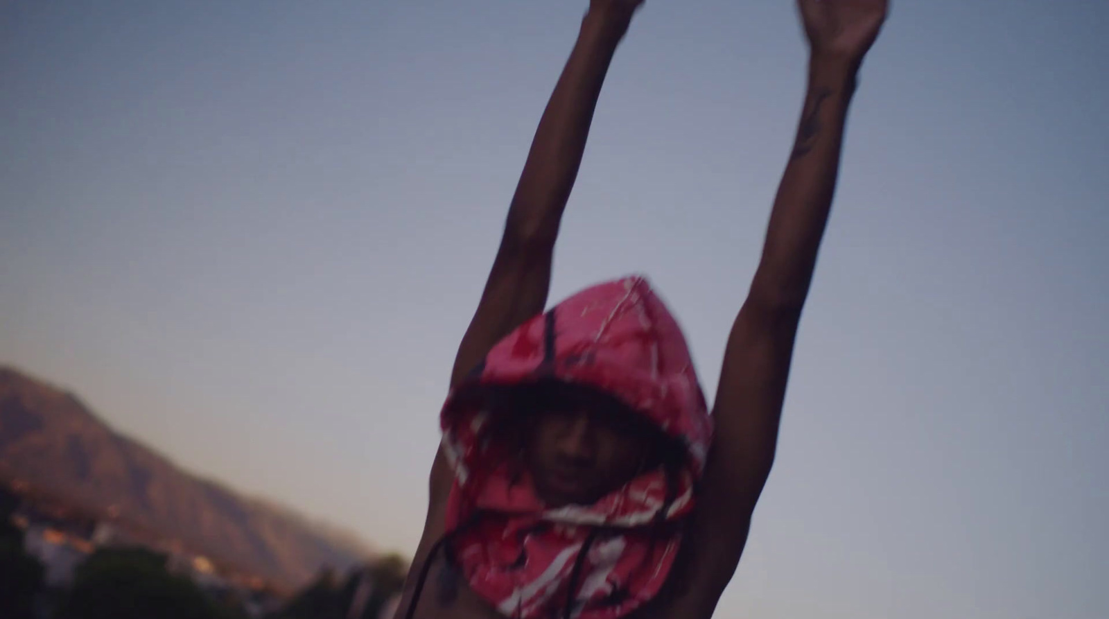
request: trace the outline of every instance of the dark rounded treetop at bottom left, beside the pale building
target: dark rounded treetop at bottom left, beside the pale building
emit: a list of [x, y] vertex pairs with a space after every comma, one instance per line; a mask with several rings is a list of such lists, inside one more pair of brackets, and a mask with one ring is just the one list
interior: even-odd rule
[[57, 619], [235, 619], [143, 549], [101, 549], [78, 567]]

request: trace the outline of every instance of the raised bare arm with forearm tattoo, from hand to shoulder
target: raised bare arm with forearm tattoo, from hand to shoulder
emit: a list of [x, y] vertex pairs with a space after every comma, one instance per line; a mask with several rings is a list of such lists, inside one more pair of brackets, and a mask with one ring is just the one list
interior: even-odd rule
[[[808, 92], [762, 260], [724, 353], [713, 410], [716, 434], [693, 534], [703, 552], [694, 578], [709, 587], [700, 598], [713, 606], [734, 572], [774, 460], [794, 336], [832, 206], [847, 105], [887, 1], [800, 0], [798, 7], [811, 48]], [[711, 610], [691, 616], [708, 617]]]

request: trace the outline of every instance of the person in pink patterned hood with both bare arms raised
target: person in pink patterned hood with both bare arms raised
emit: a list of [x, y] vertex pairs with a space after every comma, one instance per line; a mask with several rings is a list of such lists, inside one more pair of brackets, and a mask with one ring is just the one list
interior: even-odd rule
[[610, 61], [642, 0], [591, 0], [542, 115], [440, 414], [397, 617], [713, 615], [774, 460], [848, 103], [887, 0], [798, 0], [808, 88], [712, 412], [641, 276], [547, 304]]

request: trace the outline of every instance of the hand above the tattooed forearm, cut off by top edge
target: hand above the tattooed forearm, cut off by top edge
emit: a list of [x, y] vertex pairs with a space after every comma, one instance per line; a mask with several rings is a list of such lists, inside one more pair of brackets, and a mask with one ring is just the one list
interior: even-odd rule
[[797, 8], [813, 57], [857, 68], [878, 37], [889, 0], [797, 0]]

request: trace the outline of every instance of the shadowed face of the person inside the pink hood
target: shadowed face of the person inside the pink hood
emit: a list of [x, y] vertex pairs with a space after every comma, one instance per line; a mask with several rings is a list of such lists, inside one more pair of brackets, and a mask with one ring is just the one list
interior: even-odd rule
[[594, 503], [652, 461], [660, 433], [603, 394], [561, 386], [528, 402], [525, 464], [549, 507]]

